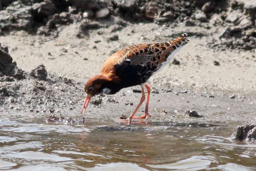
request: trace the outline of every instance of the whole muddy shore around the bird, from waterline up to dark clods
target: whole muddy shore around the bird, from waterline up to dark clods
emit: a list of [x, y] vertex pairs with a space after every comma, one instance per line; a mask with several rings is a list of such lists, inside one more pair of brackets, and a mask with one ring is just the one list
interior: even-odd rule
[[[187, 32], [188, 46], [149, 80], [152, 124], [228, 123], [234, 130], [255, 124], [256, 4], [239, 0], [173, 4], [0, 1], [0, 112], [36, 114], [45, 120], [60, 114], [78, 121], [84, 117], [84, 123], [101, 117], [105, 123], [104, 118], [110, 117], [116, 123], [138, 103], [139, 87], [95, 97], [87, 115], [80, 117], [87, 79], [125, 46], [170, 41]], [[202, 117], [186, 116], [185, 110]], [[236, 130], [239, 140], [248, 137], [239, 136], [244, 127]]]

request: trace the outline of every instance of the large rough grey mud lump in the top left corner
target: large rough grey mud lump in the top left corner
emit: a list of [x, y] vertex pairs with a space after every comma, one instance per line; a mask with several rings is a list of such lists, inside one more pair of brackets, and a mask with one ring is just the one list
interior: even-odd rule
[[2, 31], [11, 30], [31, 30], [33, 18], [30, 13], [30, 6], [23, 5], [21, 1], [16, 1], [5, 10], [0, 11], [0, 28]]

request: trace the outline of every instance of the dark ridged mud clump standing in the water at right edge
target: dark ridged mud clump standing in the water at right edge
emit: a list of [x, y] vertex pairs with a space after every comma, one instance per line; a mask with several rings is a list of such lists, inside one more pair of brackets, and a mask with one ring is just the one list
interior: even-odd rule
[[236, 131], [232, 134], [231, 139], [252, 143], [256, 139], [256, 125], [237, 126]]

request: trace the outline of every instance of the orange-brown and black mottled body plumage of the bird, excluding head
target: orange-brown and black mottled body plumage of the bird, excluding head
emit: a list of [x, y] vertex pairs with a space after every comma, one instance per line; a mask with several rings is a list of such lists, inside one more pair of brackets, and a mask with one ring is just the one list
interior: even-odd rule
[[106, 77], [111, 74], [117, 76], [116, 81], [119, 82], [119, 86], [118, 89], [113, 89], [112, 93], [126, 87], [143, 84], [168, 63], [168, 58], [172, 57], [172, 53], [188, 41], [187, 34], [184, 33], [169, 42], [136, 44], [126, 47], [109, 57], [100, 74]]

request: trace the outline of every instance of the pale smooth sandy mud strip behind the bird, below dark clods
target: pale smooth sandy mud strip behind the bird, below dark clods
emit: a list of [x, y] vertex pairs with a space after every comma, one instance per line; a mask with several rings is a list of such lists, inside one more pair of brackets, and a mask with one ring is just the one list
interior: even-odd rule
[[[119, 39], [112, 42], [107, 42], [110, 35], [107, 28], [91, 30], [90, 36], [82, 39], [74, 35], [75, 28], [76, 24], [64, 27], [56, 39], [32, 36], [24, 31], [1, 36], [0, 39], [4, 46], [9, 47], [9, 53], [19, 68], [31, 70], [43, 63], [48, 72], [85, 82], [100, 72], [104, 61], [116, 50], [136, 43], [164, 42], [187, 32], [190, 42], [175, 56], [180, 65], [166, 66], [151, 78], [151, 82], [244, 93], [253, 93], [255, 90], [255, 49], [243, 51], [209, 48], [207, 43], [211, 39], [218, 39], [223, 27], [208, 30], [197, 26], [185, 27], [184, 23], [173, 28], [154, 23], [130, 24], [114, 33]], [[103, 34], [98, 35], [99, 31]], [[195, 36], [198, 34], [203, 36]], [[100, 42], [95, 43], [97, 40]], [[215, 66], [214, 61], [219, 61], [220, 66]]]

